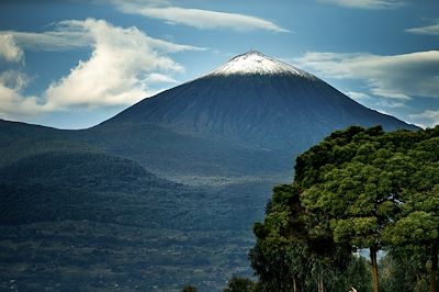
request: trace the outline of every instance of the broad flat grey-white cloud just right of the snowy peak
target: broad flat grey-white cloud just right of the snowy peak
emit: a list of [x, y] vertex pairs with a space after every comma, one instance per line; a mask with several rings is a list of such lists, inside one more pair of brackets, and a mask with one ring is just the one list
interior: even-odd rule
[[393, 56], [306, 53], [294, 63], [325, 78], [363, 80], [375, 96], [439, 98], [439, 50]]

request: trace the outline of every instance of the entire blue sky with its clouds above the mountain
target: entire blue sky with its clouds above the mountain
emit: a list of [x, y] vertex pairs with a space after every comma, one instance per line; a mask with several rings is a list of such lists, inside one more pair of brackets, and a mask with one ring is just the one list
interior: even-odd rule
[[3, 0], [0, 119], [89, 127], [256, 49], [434, 126], [438, 12], [437, 0]]

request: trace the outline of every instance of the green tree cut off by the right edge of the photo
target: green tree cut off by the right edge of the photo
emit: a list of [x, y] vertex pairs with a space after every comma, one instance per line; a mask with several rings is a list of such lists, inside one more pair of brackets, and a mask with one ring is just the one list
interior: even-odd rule
[[385, 231], [393, 246], [423, 248], [429, 254], [429, 291], [438, 290], [439, 127], [419, 133], [407, 156], [412, 168], [401, 199], [401, 212]]

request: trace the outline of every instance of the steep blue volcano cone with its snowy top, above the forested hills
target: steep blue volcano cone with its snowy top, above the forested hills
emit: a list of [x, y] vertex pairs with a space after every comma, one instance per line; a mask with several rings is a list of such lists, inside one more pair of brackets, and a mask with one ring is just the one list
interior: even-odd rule
[[252, 148], [302, 151], [349, 125], [415, 128], [322, 79], [251, 50], [205, 76], [144, 99], [99, 125], [154, 124]]

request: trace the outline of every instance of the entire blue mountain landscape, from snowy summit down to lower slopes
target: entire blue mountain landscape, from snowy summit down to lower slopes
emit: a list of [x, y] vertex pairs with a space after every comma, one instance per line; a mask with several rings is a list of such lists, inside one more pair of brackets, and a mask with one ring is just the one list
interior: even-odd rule
[[0, 290], [221, 290], [272, 186], [352, 124], [417, 130], [257, 52], [88, 130], [0, 121]]

